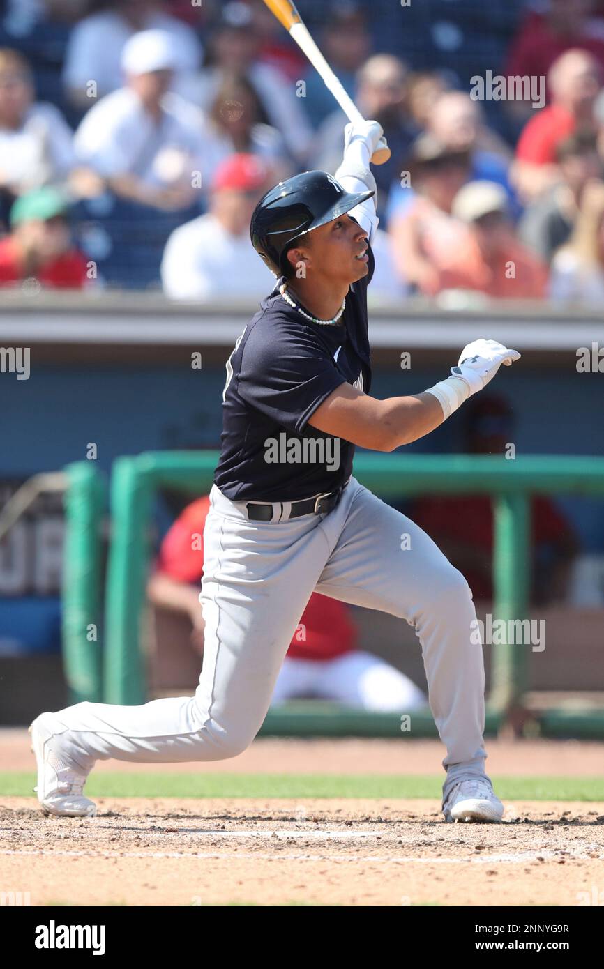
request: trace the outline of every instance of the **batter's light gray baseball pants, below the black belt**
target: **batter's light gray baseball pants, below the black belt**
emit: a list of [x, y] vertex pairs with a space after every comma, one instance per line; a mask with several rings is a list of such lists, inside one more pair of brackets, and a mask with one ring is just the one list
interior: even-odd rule
[[[55, 714], [65, 727], [52, 741], [57, 752], [84, 772], [97, 759], [162, 764], [237, 756], [262, 726], [316, 589], [414, 626], [447, 750], [443, 796], [459, 777], [484, 775], [485, 671], [482, 646], [471, 636], [474, 604], [461, 572], [425, 532], [354, 477], [329, 515], [249, 521], [244, 502], [215, 485], [210, 504], [200, 596], [204, 665], [195, 696], [66, 707]], [[273, 519], [280, 503], [274, 508]], [[402, 744], [400, 760], [402, 770]]]

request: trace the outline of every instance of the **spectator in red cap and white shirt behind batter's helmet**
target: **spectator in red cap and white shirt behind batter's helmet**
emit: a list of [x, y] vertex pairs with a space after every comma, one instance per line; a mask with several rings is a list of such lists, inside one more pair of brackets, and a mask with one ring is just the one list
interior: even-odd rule
[[232, 155], [218, 167], [209, 211], [179, 226], [168, 239], [161, 267], [166, 296], [254, 302], [270, 293], [274, 277], [268, 268], [258, 266], [249, 223], [273, 177], [250, 154]]

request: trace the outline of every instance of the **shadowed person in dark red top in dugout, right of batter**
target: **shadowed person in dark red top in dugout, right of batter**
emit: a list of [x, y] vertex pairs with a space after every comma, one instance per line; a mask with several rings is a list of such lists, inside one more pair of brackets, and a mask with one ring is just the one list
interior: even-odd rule
[[[466, 450], [473, 454], [503, 454], [513, 438], [513, 416], [503, 399], [481, 395], [464, 411]], [[570, 567], [578, 551], [574, 532], [546, 495], [530, 501], [532, 581], [531, 603], [563, 601]], [[420, 498], [409, 516], [438, 543], [458, 568], [475, 600], [493, 599], [493, 507], [485, 494]]]

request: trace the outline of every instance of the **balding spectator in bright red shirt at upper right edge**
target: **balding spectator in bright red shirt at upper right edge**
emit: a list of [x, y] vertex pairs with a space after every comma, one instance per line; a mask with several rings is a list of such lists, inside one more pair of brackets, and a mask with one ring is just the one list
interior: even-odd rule
[[556, 148], [579, 129], [596, 128], [593, 106], [602, 82], [599, 62], [585, 50], [571, 49], [549, 74], [551, 103], [527, 122], [516, 148], [513, 181], [530, 202], [559, 180]]

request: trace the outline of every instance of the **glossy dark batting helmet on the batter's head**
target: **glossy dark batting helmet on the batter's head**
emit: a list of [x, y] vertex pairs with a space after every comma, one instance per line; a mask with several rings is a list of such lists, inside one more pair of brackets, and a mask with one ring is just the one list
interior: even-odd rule
[[254, 209], [249, 234], [275, 276], [287, 267], [288, 249], [311, 229], [331, 222], [373, 195], [346, 192], [328, 172], [302, 172], [271, 188]]

